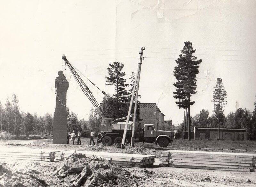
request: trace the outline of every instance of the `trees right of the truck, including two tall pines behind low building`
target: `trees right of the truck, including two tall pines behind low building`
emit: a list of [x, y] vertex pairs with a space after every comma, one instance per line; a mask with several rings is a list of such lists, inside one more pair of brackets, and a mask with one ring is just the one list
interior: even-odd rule
[[246, 108], [238, 108], [235, 113], [230, 112], [225, 116], [224, 107], [227, 104], [227, 92], [221, 78], [217, 78], [216, 85], [214, 86], [212, 99], [214, 104], [213, 114], [209, 116], [209, 111], [202, 109], [199, 114], [191, 118], [190, 106], [195, 101], [191, 101], [190, 97], [196, 94], [196, 75], [199, 73], [199, 64], [202, 60], [197, 60], [194, 55], [196, 49], [193, 49], [191, 42], [184, 42], [184, 44], [185, 46], [180, 50], [181, 54], [176, 60], [177, 66], [174, 67], [173, 71], [177, 79], [177, 82], [173, 84], [176, 87], [173, 97], [178, 99], [175, 102], [178, 107], [186, 110], [183, 122], [179, 126], [178, 134], [188, 131], [188, 139], [190, 140], [190, 131], [194, 129], [194, 126], [245, 128], [248, 139], [256, 140], [256, 102], [254, 103], [255, 109], [252, 112]]

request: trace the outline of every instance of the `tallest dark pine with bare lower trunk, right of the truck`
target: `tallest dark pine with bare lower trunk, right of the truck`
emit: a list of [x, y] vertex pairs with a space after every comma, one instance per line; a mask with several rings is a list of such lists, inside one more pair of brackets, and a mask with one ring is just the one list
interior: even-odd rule
[[194, 55], [196, 50], [193, 49], [190, 41], [184, 43], [179, 58], [175, 60], [178, 66], [174, 67], [173, 73], [178, 81], [173, 84], [176, 87], [173, 97], [179, 100], [175, 102], [179, 108], [188, 108], [188, 140], [190, 140], [190, 106], [195, 103], [190, 97], [196, 94], [196, 75], [199, 73], [198, 68], [202, 60], [196, 60]]

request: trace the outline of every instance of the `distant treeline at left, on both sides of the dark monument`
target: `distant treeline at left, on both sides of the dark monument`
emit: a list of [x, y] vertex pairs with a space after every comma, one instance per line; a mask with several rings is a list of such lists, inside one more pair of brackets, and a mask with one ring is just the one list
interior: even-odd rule
[[[93, 123], [93, 111], [90, 115], [90, 123]], [[68, 113], [68, 131], [75, 130], [83, 132], [84, 135], [90, 133], [91, 128], [97, 131], [98, 127], [93, 128], [88, 126], [88, 121], [84, 119], [78, 120], [74, 112]], [[95, 114], [96, 115], [96, 114]], [[12, 94], [11, 99], [6, 98], [5, 104], [0, 101], [0, 130], [2, 135], [15, 135], [15, 136], [50, 136], [53, 130], [53, 116], [46, 113], [43, 116], [38, 116], [37, 113], [31, 114], [23, 112], [19, 109], [19, 101], [16, 94]]]

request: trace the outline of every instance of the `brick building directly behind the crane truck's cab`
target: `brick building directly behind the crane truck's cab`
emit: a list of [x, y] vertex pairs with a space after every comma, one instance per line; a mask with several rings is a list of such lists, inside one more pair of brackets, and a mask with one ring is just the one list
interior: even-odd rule
[[156, 106], [156, 103], [138, 103], [137, 116], [142, 119], [141, 126], [144, 124], [154, 124], [156, 130], [163, 130], [164, 114]]

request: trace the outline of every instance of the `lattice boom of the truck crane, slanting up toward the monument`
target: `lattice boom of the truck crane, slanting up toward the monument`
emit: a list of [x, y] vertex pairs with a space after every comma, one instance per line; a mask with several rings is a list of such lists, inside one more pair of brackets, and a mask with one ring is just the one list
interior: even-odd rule
[[100, 108], [99, 103], [96, 101], [95, 97], [92, 95], [92, 92], [90, 91], [90, 89], [88, 88], [88, 86], [84, 83], [83, 79], [78, 75], [78, 73], [76, 72], [76, 70], [73, 68], [73, 66], [69, 63], [69, 61], [67, 60], [67, 57], [63, 54], [62, 55], [62, 59], [65, 61], [65, 65], [68, 66], [68, 68], [70, 69], [71, 73], [73, 74], [73, 76], [76, 79], [76, 82], [79, 84], [80, 88], [82, 89], [82, 91], [84, 92], [84, 94], [86, 95], [86, 97], [90, 100], [90, 102], [92, 103], [92, 105], [96, 108], [96, 110], [99, 112], [100, 116], [102, 118], [105, 118], [104, 112], [102, 111], [102, 109]]

